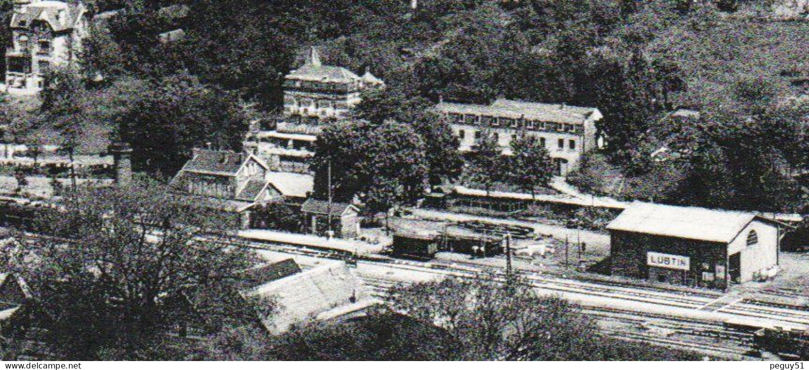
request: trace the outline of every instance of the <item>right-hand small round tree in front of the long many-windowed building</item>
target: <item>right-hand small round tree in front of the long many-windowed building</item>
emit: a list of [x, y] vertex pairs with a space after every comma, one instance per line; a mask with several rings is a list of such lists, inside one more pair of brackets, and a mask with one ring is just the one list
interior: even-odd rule
[[539, 139], [521, 131], [511, 141], [511, 156], [506, 161], [512, 183], [536, 195], [537, 187], [547, 187], [553, 178], [553, 161]]

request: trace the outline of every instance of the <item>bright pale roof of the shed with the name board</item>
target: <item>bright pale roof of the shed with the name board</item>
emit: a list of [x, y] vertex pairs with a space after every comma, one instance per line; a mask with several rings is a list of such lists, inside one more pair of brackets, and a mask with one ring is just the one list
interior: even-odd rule
[[607, 229], [726, 244], [756, 217], [748, 212], [634, 202]]

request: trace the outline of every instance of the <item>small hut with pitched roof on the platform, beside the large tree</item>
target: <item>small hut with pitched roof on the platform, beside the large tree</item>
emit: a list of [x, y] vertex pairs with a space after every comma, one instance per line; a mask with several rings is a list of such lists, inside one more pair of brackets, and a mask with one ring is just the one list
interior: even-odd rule
[[304, 227], [309, 233], [326, 235], [331, 229], [337, 238], [357, 238], [360, 234], [359, 208], [353, 204], [309, 198], [301, 205]]

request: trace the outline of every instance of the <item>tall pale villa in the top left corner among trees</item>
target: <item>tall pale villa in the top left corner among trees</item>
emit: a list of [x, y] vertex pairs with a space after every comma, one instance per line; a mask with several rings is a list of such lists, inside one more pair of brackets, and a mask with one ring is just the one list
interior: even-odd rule
[[81, 2], [15, 0], [11, 46], [6, 48], [6, 90], [36, 94], [44, 76], [76, 61], [87, 36], [87, 9]]

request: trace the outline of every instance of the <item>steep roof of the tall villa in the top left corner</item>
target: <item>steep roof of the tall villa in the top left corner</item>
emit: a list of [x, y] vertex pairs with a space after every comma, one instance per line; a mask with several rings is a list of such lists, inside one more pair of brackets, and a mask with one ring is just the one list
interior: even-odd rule
[[[12, 27], [31, 27], [32, 22], [42, 20], [48, 23], [54, 32], [72, 29], [86, 11], [84, 6], [59, 1], [32, 2], [23, 9], [23, 12], [15, 12], [12, 16]], [[60, 11], [65, 12], [64, 19], [59, 19]]]

